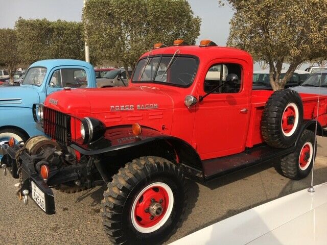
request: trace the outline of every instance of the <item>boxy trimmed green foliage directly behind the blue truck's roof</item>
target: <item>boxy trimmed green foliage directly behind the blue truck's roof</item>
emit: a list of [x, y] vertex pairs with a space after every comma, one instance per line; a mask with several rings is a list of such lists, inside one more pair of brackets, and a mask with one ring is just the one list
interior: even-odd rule
[[19, 37], [19, 55], [24, 63], [57, 58], [84, 59], [81, 22], [19, 18], [15, 29]]

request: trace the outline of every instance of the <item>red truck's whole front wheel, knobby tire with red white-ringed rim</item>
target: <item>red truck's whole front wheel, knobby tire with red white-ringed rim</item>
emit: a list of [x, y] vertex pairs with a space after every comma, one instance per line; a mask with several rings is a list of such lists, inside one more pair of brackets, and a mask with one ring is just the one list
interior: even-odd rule
[[185, 179], [176, 165], [160, 157], [134, 159], [104, 192], [105, 232], [119, 244], [157, 244], [177, 228], [185, 200]]

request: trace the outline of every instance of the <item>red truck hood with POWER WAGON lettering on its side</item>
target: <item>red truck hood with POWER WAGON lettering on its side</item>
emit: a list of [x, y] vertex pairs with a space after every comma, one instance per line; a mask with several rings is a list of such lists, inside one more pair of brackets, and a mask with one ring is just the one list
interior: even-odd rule
[[173, 115], [171, 97], [147, 86], [61, 90], [44, 104], [66, 114], [98, 118], [107, 127], [138, 122], [159, 130], [170, 128]]

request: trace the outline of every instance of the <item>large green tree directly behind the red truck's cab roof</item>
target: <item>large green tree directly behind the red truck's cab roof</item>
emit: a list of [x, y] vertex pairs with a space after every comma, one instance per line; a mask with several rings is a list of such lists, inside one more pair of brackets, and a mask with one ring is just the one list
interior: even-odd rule
[[83, 23], [90, 54], [127, 69], [154, 43], [195, 43], [201, 20], [185, 0], [88, 0]]

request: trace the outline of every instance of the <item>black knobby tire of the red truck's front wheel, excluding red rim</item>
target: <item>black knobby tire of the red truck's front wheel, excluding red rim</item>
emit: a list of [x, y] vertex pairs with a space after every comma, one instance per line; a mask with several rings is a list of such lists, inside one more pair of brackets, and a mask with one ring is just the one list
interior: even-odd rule
[[[151, 184], [165, 183], [173, 193], [173, 208], [160, 228], [149, 233], [133, 225], [133, 204], [143, 199]], [[152, 199], [151, 199], [152, 200]], [[168, 203], [168, 202], [167, 202]], [[182, 171], [172, 162], [160, 157], [141, 157], [128, 162], [114, 175], [101, 203], [105, 233], [115, 244], [158, 244], [167, 240], [181, 222], [186, 205], [186, 184]], [[136, 210], [136, 207], [135, 207]], [[136, 212], [136, 211], [135, 211]], [[164, 216], [165, 217], [165, 216]], [[163, 218], [164, 219], [164, 218]]]

